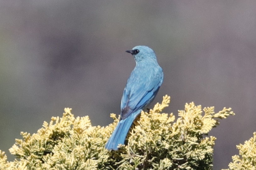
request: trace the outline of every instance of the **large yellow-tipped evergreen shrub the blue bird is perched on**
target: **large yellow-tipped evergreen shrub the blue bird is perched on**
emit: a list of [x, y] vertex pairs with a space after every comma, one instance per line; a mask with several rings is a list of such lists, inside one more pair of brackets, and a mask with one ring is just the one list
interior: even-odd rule
[[162, 113], [170, 103], [164, 96], [153, 110], [141, 113], [127, 136], [126, 145], [108, 151], [105, 144], [119, 119], [106, 127], [92, 126], [88, 116], [74, 117], [65, 108], [62, 118], [52, 117], [36, 134], [21, 132], [10, 149], [17, 159], [8, 162], [0, 151], [3, 169], [212, 169], [215, 137], [205, 137], [218, 125], [216, 118], [234, 115], [231, 108], [214, 113], [214, 107], [189, 103], [178, 118]]

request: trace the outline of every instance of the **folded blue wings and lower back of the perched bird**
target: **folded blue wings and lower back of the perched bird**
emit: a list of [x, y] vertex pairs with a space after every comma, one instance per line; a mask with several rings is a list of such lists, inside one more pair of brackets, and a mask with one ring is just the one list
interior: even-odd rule
[[148, 105], [154, 99], [162, 82], [163, 74], [149, 82], [143, 79], [139, 82], [128, 81], [121, 101], [121, 119]]

